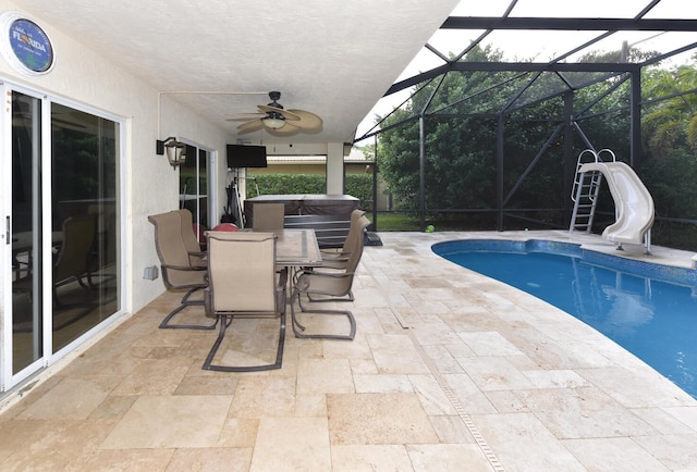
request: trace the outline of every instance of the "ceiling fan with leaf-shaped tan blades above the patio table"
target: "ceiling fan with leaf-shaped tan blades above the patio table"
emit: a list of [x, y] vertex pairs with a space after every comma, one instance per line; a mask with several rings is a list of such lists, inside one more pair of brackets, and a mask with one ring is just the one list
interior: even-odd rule
[[[322, 128], [322, 119], [315, 113], [305, 110], [285, 110], [278, 100], [280, 91], [270, 91], [271, 103], [258, 104], [256, 113], [245, 113], [247, 117], [234, 117], [227, 121], [242, 121], [237, 126], [239, 134], [266, 129], [272, 135], [288, 136], [295, 133], [319, 133]], [[250, 115], [250, 116], [249, 116]]]

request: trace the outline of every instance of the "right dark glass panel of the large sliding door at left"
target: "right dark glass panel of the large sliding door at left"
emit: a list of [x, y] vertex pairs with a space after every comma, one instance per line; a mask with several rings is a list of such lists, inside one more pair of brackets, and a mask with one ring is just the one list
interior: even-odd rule
[[119, 310], [118, 136], [118, 123], [51, 107], [53, 352]]

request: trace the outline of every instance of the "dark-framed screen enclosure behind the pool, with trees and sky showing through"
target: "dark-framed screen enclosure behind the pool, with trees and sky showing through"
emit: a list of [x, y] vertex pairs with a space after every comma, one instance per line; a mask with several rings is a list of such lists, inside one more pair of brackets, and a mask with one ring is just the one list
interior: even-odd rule
[[696, 30], [681, 1], [461, 4], [356, 142], [421, 229], [568, 227], [577, 158], [610, 149], [653, 195], [655, 237], [694, 249]]

